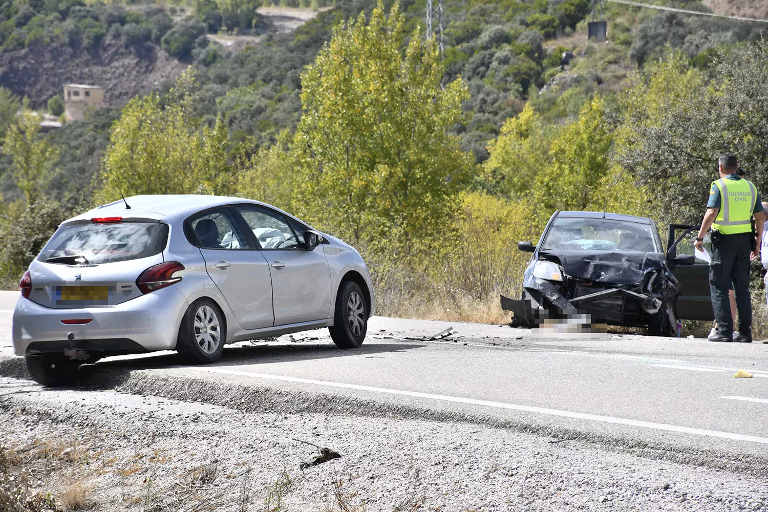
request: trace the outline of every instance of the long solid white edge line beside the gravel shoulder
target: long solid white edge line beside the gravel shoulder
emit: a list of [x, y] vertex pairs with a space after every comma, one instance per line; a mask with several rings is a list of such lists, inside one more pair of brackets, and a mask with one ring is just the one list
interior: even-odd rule
[[627, 418], [613, 418], [611, 416], [591, 415], [583, 412], [574, 412], [574, 411], [561, 411], [558, 409], [533, 407], [531, 405], [507, 404], [501, 401], [477, 400], [475, 398], [462, 398], [462, 397], [455, 397], [455, 396], [449, 396], [449, 395], [432, 395], [432, 393], [422, 393], [419, 391], [406, 391], [402, 389], [389, 389], [389, 388], [374, 388], [372, 386], [345, 384], [342, 382], [316, 381], [311, 378], [286, 377], [283, 375], [267, 375], [264, 373], [240, 372], [239, 370], [227, 370], [223, 368], [195, 368], [195, 369], [200, 372], [220, 373], [224, 375], [240, 375], [242, 377], [264, 378], [264, 379], [269, 379], [273, 381], [300, 382], [302, 384], [327, 386], [329, 388], [356, 389], [359, 391], [372, 391], [375, 393], [386, 393], [388, 395], [406, 395], [406, 396], [413, 396], [417, 398], [429, 398], [432, 400], [459, 402], [462, 404], [485, 405], [486, 407], [511, 409], [514, 411], [535, 412], [542, 415], [562, 416], [564, 418], [576, 418], [581, 420], [602, 421], [604, 423], [629, 425], [631, 427], [652, 428], [654, 430], [661, 430], [661, 431], [703, 435], [710, 438], [723, 438], [723, 439], [731, 439], [733, 441], [749, 441], [753, 443], [768, 444], [768, 438], [761, 438], [754, 435], [706, 430], [703, 428], [690, 428], [690, 427], [684, 427], [681, 425], [654, 423], [651, 421], [639, 421], [639, 420], [631, 420]]

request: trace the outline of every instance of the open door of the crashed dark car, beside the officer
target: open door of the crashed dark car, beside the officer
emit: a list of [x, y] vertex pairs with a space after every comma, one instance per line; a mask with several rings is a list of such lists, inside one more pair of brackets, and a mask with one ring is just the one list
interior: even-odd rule
[[[675, 265], [677, 256], [694, 256], [694, 242], [700, 226], [670, 224], [667, 233], [667, 264], [680, 282], [680, 293], [674, 311], [681, 320], [713, 320], [710, 299], [710, 264], [695, 259], [693, 265]], [[709, 246], [710, 236], [704, 237], [704, 247]]]

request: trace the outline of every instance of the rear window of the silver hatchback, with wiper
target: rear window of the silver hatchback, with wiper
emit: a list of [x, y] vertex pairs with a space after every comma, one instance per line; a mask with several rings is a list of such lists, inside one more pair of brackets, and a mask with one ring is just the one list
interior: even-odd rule
[[38, 260], [65, 265], [98, 264], [162, 253], [168, 226], [161, 223], [68, 224], [45, 244]]

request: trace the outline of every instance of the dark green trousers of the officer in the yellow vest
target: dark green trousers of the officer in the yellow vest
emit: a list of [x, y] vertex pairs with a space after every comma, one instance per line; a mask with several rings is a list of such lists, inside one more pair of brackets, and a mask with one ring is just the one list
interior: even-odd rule
[[752, 233], [713, 236], [710, 263], [710, 296], [720, 334], [730, 338], [733, 318], [728, 300], [728, 285], [733, 283], [739, 312], [739, 331], [750, 334], [752, 328], [752, 299], [750, 298], [750, 252]]

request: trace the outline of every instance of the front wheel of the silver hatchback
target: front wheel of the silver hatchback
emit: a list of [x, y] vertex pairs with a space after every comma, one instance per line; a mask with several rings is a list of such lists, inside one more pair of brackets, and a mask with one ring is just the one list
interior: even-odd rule
[[354, 281], [345, 282], [336, 296], [336, 313], [333, 327], [329, 327], [331, 339], [339, 348], [357, 348], [366, 339], [368, 330], [368, 306], [362, 289]]

